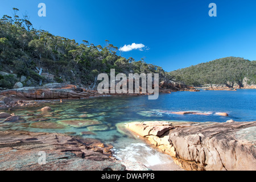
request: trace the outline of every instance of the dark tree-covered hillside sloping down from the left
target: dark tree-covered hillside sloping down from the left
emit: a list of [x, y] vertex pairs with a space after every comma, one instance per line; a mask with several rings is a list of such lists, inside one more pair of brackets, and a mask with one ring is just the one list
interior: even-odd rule
[[[0, 87], [13, 88], [20, 81], [24, 86], [42, 85], [48, 82], [70, 82], [86, 86], [94, 85], [99, 73], [159, 73], [161, 80], [170, 77], [161, 67], [135, 61], [117, 55], [118, 48], [106, 40], [104, 46], [94, 46], [83, 40], [55, 36], [44, 30], [36, 30], [28, 16], [19, 17], [13, 9], [13, 17], [0, 19]], [[11, 74], [6, 74], [11, 73]]]

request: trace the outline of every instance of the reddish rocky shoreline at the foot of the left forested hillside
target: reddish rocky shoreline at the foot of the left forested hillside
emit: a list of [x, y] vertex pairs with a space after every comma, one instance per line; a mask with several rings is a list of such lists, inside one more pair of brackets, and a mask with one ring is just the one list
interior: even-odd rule
[[[175, 85], [174, 82], [161, 82], [160, 93], [171, 93], [177, 91], [199, 92], [199, 90], [185, 85]], [[53, 100], [79, 100], [90, 97], [101, 96], [142, 96], [148, 93], [128, 93], [128, 94], [100, 94], [97, 90], [87, 90], [72, 84], [46, 84], [38, 87], [22, 87], [0, 91], [0, 108], [35, 106]]]

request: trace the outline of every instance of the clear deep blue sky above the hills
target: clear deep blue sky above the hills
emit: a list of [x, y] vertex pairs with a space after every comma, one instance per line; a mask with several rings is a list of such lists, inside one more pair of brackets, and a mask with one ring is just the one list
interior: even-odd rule
[[[208, 15], [212, 2], [217, 17]], [[46, 17], [38, 16], [39, 3], [46, 4]], [[1, 2], [0, 16], [13, 7], [20, 16], [27, 11], [34, 28], [78, 43], [143, 44], [122, 56], [165, 71], [227, 56], [256, 60], [255, 0], [9, 0]]]

